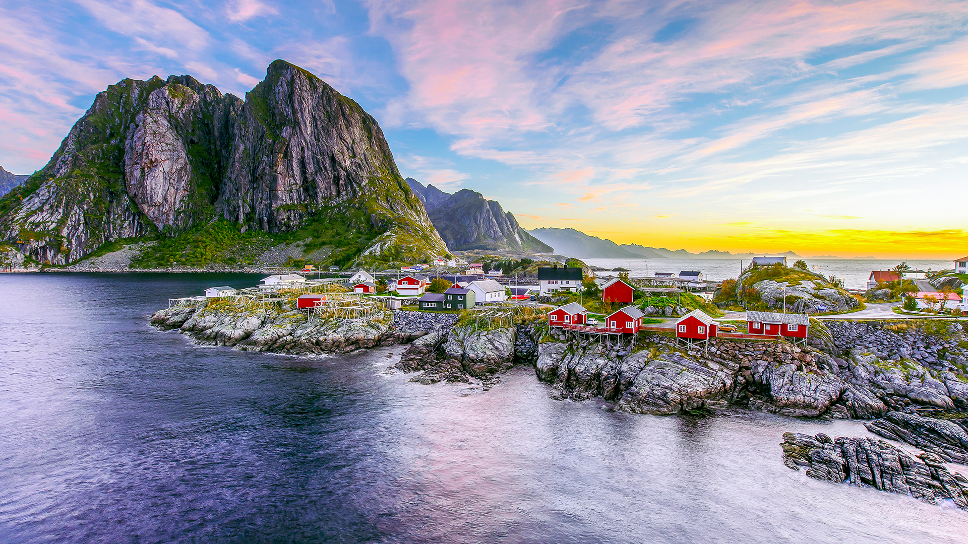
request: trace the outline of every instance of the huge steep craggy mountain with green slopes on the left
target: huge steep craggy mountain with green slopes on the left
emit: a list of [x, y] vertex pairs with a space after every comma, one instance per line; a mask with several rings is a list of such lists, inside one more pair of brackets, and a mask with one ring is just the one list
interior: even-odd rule
[[448, 254], [377, 121], [283, 60], [245, 100], [192, 76], [110, 85], [50, 162], [0, 199], [0, 237], [53, 264], [214, 220], [339, 233], [351, 247], [336, 250], [357, 259]]

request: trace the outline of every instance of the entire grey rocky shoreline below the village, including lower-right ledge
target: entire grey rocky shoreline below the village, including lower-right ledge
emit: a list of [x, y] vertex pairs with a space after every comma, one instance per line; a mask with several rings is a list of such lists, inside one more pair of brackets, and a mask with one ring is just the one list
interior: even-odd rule
[[738, 407], [818, 419], [866, 420], [883, 438], [923, 450], [912, 456], [873, 438], [787, 434], [787, 466], [968, 509], [968, 481], [944, 463], [968, 462], [968, 335], [946, 320], [811, 321], [805, 345], [712, 339], [707, 348], [672, 334], [640, 333], [609, 346], [550, 328], [540, 313], [482, 325], [468, 313], [380, 310], [366, 319], [314, 316], [297, 292], [274, 304], [200, 300], [151, 322], [203, 345], [294, 355], [406, 345], [395, 372], [410, 381], [474, 382], [487, 390], [515, 365], [534, 368], [559, 399], [599, 398], [647, 414]]

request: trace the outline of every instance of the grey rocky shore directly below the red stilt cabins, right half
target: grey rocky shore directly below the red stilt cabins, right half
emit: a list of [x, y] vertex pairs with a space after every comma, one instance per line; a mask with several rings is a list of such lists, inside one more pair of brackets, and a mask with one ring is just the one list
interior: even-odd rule
[[[628, 348], [566, 343], [552, 334], [557, 342], [540, 345], [535, 373], [560, 397], [601, 397], [619, 409], [657, 414], [728, 403], [794, 417], [873, 419], [909, 407], [966, 406], [963, 365], [887, 358], [884, 351], [880, 358], [856, 347], [855, 341], [867, 337], [854, 329], [865, 330], [868, 323], [828, 324], [830, 337], [820, 348], [715, 339], [701, 350], [656, 334], [629, 354]], [[912, 327], [905, 338], [920, 343], [918, 349], [950, 346], [947, 356], [966, 340], [956, 327], [948, 332], [925, 336]], [[908, 348], [899, 343], [892, 349]]]

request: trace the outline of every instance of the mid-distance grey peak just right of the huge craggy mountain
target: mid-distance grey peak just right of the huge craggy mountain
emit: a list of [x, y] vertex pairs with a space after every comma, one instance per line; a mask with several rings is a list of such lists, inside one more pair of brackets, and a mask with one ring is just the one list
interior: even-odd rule
[[424, 187], [411, 177], [407, 183], [423, 200], [427, 215], [452, 250], [553, 253], [551, 247], [531, 236], [495, 200], [469, 189], [451, 195], [433, 185]]

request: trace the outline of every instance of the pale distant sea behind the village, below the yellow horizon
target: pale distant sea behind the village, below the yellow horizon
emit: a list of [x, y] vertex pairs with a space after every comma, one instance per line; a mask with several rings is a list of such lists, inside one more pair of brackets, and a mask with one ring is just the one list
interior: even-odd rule
[[[703, 279], [719, 282], [740, 275], [742, 266], [749, 266], [749, 259], [740, 260], [729, 258], [585, 258], [588, 264], [602, 268], [626, 268], [631, 270], [633, 278], [646, 277], [655, 272], [672, 272], [679, 274], [681, 270], [698, 270], [703, 273]], [[804, 258], [807, 266], [824, 276], [836, 276], [844, 280], [844, 285], [851, 289], [867, 287], [867, 278], [871, 270], [890, 270], [901, 261], [891, 259], [862, 259], [862, 258]], [[788, 260], [793, 265], [794, 260]], [[951, 260], [907, 260], [915, 270], [944, 270], [951, 269]]]

